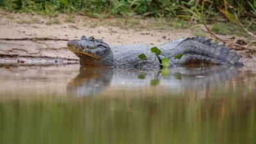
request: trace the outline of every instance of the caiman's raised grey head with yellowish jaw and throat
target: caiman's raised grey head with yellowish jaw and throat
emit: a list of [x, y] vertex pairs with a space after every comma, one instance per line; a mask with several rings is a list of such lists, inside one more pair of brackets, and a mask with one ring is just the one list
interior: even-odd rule
[[82, 66], [112, 66], [113, 53], [107, 43], [93, 36], [68, 42], [68, 49], [77, 55]]

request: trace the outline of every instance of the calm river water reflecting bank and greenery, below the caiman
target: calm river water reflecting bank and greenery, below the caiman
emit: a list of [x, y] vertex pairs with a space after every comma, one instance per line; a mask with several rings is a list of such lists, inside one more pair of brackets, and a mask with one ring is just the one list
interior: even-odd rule
[[256, 143], [256, 71], [0, 68], [0, 143]]

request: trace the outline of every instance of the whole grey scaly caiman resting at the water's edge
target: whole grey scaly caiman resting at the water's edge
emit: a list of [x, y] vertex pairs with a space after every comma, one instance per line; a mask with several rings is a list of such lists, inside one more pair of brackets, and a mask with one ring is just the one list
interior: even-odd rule
[[[241, 55], [235, 50], [219, 44], [218, 41], [212, 42], [212, 39], [205, 40], [198, 36], [172, 40], [159, 45], [157, 48], [161, 50], [161, 54], [157, 55], [157, 59], [154, 59], [155, 55], [148, 45], [124, 45], [110, 48], [107, 43], [93, 36], [89, 38], [82, 36], [81, 40], [71, 40], [67, 45], [68, 49], [79, 57], [81, 66], [137, 67], [140, 61], [138, 55], [143, 53], [147, 55], [147, 61], [141, 62], [141, 67], [159, 67], [164, 55], [169, 52], [172, 52], [173, 56], [183, 54], [179, 64], [204, 62], [243, 66], [243, 62], [239, 62]], [[173, 57], [168, 60], [171, 66], [178, 64], [178, 60]]]

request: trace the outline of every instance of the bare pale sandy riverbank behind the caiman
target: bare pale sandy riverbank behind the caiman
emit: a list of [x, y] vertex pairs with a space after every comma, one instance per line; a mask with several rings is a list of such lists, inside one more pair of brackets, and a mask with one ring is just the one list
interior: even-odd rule
[[[140, 28], [154, 19], [141, 19], [138, 26], [122, 29], [112, 26], [117, 22], [115, 18], [104, 20], [75, 16], [73, 22], [67, 21], [67, 15], [59, 15], [56, 18], [49, 18], [40, 15], [29, 15], [24, 13], [2, 13], [0, 18], [0, 38], [64, 38], [79, 39], [81, 36], [95, 36], [95, 38], [106, 41], [111, 47], [116, 45], [131, 45], [143, 43], [152, 47], [161, 45], [169, 40], [195, 36], [189, 29], [166, 29], [152, 27], [152, 29]], [[49, 24], [58, 20], [60, 24]], [[100, 23], [100, 24], [97, 24]], [[94, 24], [94, 25], [93, 25]], [[142, 25], [142, 26], [141, 26]], [[163, 27], [163, 25], [162, 25]], [[207, 38], [211, 38], [206, 34]], [[221, 36], [222, 38], [228, 36]], [[230, 37], [230, 36], [229, 36]], [[245, 51], [239, 51], [242, 55], [241, 61], [245, 66], [253, 66], [256, 63], [256, 55]], [[54, 62], [76, 63], [77, 57], [67, 49], [67, 41], [5, 41], [0, 40], [0, 63], [17, 61], [22, 59], [39, 59], [38, 64]], [[35, 63], [35, 64], [37, 64]]]

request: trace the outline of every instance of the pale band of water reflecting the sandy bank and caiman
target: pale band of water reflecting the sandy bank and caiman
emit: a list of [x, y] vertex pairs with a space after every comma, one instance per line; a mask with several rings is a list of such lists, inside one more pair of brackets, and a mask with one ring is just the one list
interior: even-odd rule
[[65, 96], [255, 96], [256, 71], [234, 67], [170, 69], [0, 67], [0, 99]]

